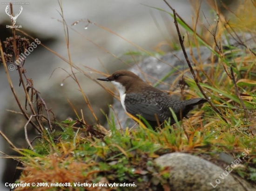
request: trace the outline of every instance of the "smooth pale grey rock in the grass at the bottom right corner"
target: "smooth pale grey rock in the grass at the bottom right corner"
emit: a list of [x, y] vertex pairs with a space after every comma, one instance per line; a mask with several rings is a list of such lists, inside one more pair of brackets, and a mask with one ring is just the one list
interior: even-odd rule
[[232, 172], [228, 174], [226, 169], [190, 154], [168, 153], [156, 158], [155, 163], [169, 167], [171, 191], [256, 191], [255, 186]]

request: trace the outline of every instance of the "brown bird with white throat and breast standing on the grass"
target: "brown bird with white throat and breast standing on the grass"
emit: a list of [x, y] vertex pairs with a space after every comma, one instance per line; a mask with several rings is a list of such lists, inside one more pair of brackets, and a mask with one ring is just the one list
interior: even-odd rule
[[98, 80], [114, 84], [120, 93], [123, 109], [137, 119], [138, 115], [146, 119], [154, 130], [159, 125], [162, 128], [164, 121], [169, 118], [170, 125], [176, 123], [170, 108], [175, 113], [177, 121], [180, 121], [184, 117], [189, 119], [187, 114], [195, 105], [208, 102], [203, 98], [182, 101], [172, 99], [168, 93], [150, 86], [128, 70], [118, 70], [111, 76]]

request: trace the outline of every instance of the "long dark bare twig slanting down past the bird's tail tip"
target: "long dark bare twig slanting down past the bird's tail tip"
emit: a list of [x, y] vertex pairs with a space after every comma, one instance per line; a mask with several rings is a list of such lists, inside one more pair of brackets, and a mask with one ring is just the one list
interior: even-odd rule
[[[195, 72], [194, 72], [194, 70], [193, 70], [193, 67], [191, 66], [191, 63], [190, 63], [190, 61], [189, 61], [189, 57], [188, 57], [188, 55], [187, 55], [187, 53], [186, 53], [186, 50], [185, 50], [185, 47], [184, 47], [184, 44], [183, 44], [183, 39], [182, 39], [182, 36], [181, 36], [181, 33], [180, 33], [180, 29], [179, 29], [179, 26], [178, 26], [178, 23], [177, 23], [175, 9], [173, 10], [173, 14], [174, 14], [174, 23], [175, 23], [175, 26], [176, 26], [176, 29], [177, 29], [177, 33], [178, 33], [178, 36], [179, 36], [179, 41], [180, 41], [180, 44], [181, 44], [181, 46], [182, 46], [182, 51], [183, 51], [183, 54], [184, 54], [184, 56], [185, 56], [185, 59], [186, 59], [186, 61], [187, 61], [187, 63], [188, 63], [190, 72], [191, 72], [191, 74], [193, 75], [193, 78], [194, 78], [194, 80], [195, 80], [196, 86], [199, 88], [199, 90], [200, 90], [200, 92], [202, 93], [202, 95], [204, 96], [204, 98], [209, 101], [208, 97], [206, 96], [206, 94], [205, 94], [204, 91], [202, 90], [202, 87], [200, 86], [198, 79], [196, 78]], [[221, 118], [222, 118], [226, 123], [228, 123], [227, 119], [225, 119], [225, 118], [222, 116], [221, 112], [215, 107], [215, 105], [212, 104], [211, 101], [209, 101], [209, 104], [211, 105], [211, 107], [213, 108], [213, 110], [214, 110], [216, 113], [218, 113], [218, 114], [221, 116]]]

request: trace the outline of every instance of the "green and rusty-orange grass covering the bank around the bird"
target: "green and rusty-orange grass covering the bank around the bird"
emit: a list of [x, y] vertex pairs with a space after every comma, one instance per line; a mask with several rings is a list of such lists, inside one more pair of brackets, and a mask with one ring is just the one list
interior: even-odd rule
[[[256, 5], [252, 1], [245, 1], [243, 7], [244, 10], [247, 7], [251, 9], [253, 7], [253, 12]], [[218, 10], [216, 12], [218, 13]], [[237, 20], [243, 17], [242, 13], [244, 14], [239, 9], [236, 14]], [[60, 14], [68, 42], [67, 31], [70, 28], [64, 20], [62, 11]], [[168, 14], [174, 16], [173, 13], [168, 12]], [[95, 190], [96, 188], [105, 188], [106, 190], [130, 190], [136, 188], [136, 190], [144, 190], [166, 184], [169, 170], [161, 169], [154, 163], [154, 159], [163, 154], [188, 152], [200, 157], [208, 154], [212, 159], [211, 161], [218, 165], [220, 164], [220, 159], [217, 158], [219, 153], [227, 153], [233, 158], [237, 158], [242, 156], [244, 149], [248, 148], [250, 151], [243, 159], [243, 168], [235, 168], [233, 173], [256, 185], [255, 52], [254, 49], [249, 49], [249, 46], [236, 35], [241, 31], [255, 35], [249, 25], [253, 18], [247, 20], [246, 26], [241, 22], [236, 21], [235, 25], [231, 21], [228, 22], [221, 17], [218, 18], [217, 22], [213, 23], [212, 26], [203, 27], [200, 35], [195, 32], [195, 28], [189, 27], [183, 20], [178, 19], [180, 26], [186, 31], [186, 39], [189, 39], [190, 47], [207, 45], [212, 51], [212, 59], [208, 64], [209, 69], [206, 70], [200, 61], [195, 62], [193, 70], [196, 72], [196, 78], [199, 79], [199, 83], [196, 83], [194, 79], [186, 78], [186, 83], [193, 91], [189, 91], [189, 93], [185, 91], [184, 93], [187, 99], [190, 97], [202, 97], [206, 94], [218, 113], [212, 105], [204, 104], [200, 110], [191, 112], [195, 117], [190, 120], [183, 120], [183, 122], [173, 126], [166, 122], [165, 128], [154, 132], [143, 124], [138, 125], [135, 130], [119, 130], [114, 123], [114, 114], [108, 119], [110, 130], [107, 131], [99, 124], [86, 125], [82, 113], [80, 115], [76, 112], [77, 120], [51, 121], [51, 125], [60, 128], [61, 131], [54, 130], [51, 132], [49, 129], [37, 128], [41, 133], [41, 137], [34, 141], [32, 147], [17, 149], [13, 146], [21, 154], [21, 157], [14, 158], [22, 164], [19, 167], [22, 170], [22, 174], [16, 180], [16, 183], [47, 183], [47, 186], [34, 186], [34, 190], [37, 191], [83, 191], [84, 189]], [[242, 25], [237, 26], [238, 23]], [[196, 19], [193, 25], [200, 25], [199, 19]], [[102, 26], [99, 27], [106, 30]], [[15, 29], [13, 30], [15, 31]], [[108, 31], [111, 33], [109, 29]], [[232, 33], [235, 36], [234, 39], [239, 42], [242, 41], [242, 43], [240, 42], [242, 46], [234, 47], [229, 44], [223, 48], [218, 43], [221, 41], [219, 37], [227, 37], [230, 31], [235, 32]], [[209, 39], [204, 38], [202, 35], [206, 32], [211, 34]], [[227, 39], [229, 38], [227, 37]], [[145, 53], [151, 56], [156, 54], [145, 52], [142, 49], [140, 51], [142, 53], [137, 51], [130, 52], [132, 58], [133, 54], [135, 56], [144, 56]], [[1, 53], [3, 57], [2, 48]], [[60, 55], [57, 56], [62, 58]], [[76, 69], [82, 72], [92, 80], [95, 80], [95, 78], [89, 76], [72, 63], [70, 56], [69, 59], [62, 59], [70, 64], [70, 75], [77, 82], [85, 103], [91, 108], [73, 70]], [[218, 60], [217, 62], [215, 61], [216, 59]], [[87, 69], [99, 73], [92, 68]], [[172, 73], [173, 71], [170, 71], [168, 75]], [[24, 79], [22, 75], [21, 77]], [[162, 83], [167, 77], [161, 79], [155, 86]], [[25, 77], [24, 80], [26, 79]], [[200, 87], [203, 92], [200, 92]], [[111, 90], [107, 91], [114, 95]], [[26, 95], [29, 104], [30, 96], [28, 96], [28, 91], [26, 91]], [[46, 112], [49, 111], [47, 110]], [[91, 112], [94, 113], [92, 109]], [[47, 114], [49, 115], [49, 113]], [[202, 115], [203, 117], [200, 117]], [[94, 118], [97, 121], [97, 116], [94, 116]], [[50, 120], [48, 117], [46, 119]], [[41, 123], [41, 120], [43, 119], [37, 118], [38, 123]], [[68, 184], [55, 185], [55, 183], [70, 183], [72, 187]], [[77, 183], [87, 184], [80, 186]], [[116, 186], [113, 185], [114, 183], [127, 183], [130, 186]], [[91, 184], [90, 187], [89, 184]], [[27, 189], [27, 187], [16, 188], [17, 191]], [[30, 189], [33, 188], [31, 187]]]

